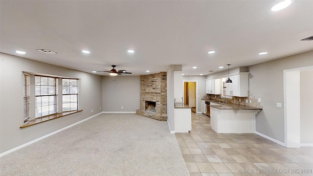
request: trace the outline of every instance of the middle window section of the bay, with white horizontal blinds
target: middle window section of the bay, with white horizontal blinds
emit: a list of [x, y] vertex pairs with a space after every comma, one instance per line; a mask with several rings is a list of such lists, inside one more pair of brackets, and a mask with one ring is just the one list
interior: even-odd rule
[[35, 76], [35, 118], [58, 112], [58, 78]]

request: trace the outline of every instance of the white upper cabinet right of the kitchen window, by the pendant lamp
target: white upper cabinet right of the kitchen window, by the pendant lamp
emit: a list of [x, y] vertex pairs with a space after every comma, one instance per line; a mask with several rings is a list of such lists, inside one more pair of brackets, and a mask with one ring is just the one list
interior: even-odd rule
[[229, 76], [232, 83], [226, 83], [226, 95], [247, 97], [248, 96], [248, 72]]

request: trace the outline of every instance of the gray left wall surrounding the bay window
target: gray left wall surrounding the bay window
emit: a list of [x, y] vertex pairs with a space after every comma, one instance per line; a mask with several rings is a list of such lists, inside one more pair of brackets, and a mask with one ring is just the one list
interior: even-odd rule
[[[79, 109], [83, 111], [20, 129], [22, 71], [80, 79]], [[0, 153], [101, 112], [101, 92], [101, 76], [0, 53]]]

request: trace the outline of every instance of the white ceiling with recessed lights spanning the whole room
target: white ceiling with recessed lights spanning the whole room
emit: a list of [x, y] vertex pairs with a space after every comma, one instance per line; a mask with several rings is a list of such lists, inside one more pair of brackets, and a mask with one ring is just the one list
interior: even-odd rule
[[1, 0], [0, 52], [22, 50], [21, 57], [89, 73], [117, 65], [151, 74], [178, 64], [185, 75], [208, 75], [226, 64], [251, 66], [313, 50], [313, 41], [300, 41], [313, 36], [313, 0], [271, 11], [279, 1]]

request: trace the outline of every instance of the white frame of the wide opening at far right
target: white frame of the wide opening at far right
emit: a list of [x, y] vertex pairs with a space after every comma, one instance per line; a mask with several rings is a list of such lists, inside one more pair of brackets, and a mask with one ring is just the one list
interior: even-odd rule
[[285, 145], [299, 148], [300, 144], [300, 71], [313, 70], [313, 66], [284, 70], [284, 124]]

